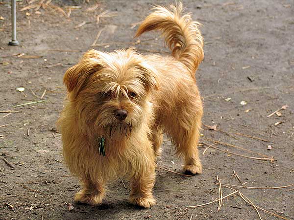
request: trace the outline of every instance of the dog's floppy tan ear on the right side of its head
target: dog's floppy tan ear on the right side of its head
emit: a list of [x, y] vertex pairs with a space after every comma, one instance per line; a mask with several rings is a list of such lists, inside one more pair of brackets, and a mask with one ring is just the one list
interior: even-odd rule
[[157, 70], [147, 62], [140, 62], [137, 67], [142, 72], [141, 80], [145, 84], [147, 92], [160, 88]]

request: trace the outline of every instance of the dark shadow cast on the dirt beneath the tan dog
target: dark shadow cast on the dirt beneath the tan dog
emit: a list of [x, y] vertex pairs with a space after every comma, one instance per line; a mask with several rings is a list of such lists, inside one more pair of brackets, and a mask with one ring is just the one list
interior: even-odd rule
[[[188, 181], [185, 176], [168, 174], [165, 172], [157, 173], [156, 183], [153, 188], [155, 198], [160, 202], [160, 198], [172, 193], [181, 188], [181, 183]], [[193, 177], [192, 177], [193, 178]], [[128, 185], [127, 181], [124, 181]], [[170, 183], [170, 184], [169, 184]], [[177, 183], [177, 184], [174, 184]], [[157, 205], [151, 209], [144, 209], [140, 206], [130, 204], [127, 200], [129, 189], [125, 189], [121, 181], [117, 181], [109, 186], [109, 192], [98, 206], [91, 206], [83, 203], [73, 203], [74, 209], [71, 212], [66, 212], [63, 215], [63, 220], [115, 220], [115, 219], [130, 219], [141, 216], [148, 216], [147, 213], [157, 209]]]

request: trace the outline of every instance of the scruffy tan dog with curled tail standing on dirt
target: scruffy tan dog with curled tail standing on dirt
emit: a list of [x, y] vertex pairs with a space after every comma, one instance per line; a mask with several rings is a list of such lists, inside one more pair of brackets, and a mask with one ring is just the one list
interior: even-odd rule
[[136, 36], [161, 30], [172, 56], [92, 49], [65, 73], [68, 96], [58, 124], [65, 162], [83, 186], [75, 201], [97, 205], [108, 180], [126, 177], [129, 201], [154, 205], [163, 133], [184, 156], [184, 170], [201, 173], [197, 143], [203, 111], [194, 74], [203, 59], [203, 39], [198, 23], [189, 14], [181, 17], [182, 4], [154, 9]]

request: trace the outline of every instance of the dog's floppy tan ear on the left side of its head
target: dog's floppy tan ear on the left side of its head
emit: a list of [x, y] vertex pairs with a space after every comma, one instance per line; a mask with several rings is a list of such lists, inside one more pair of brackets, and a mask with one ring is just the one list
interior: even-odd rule
[[65, 72], [63, 83], [69, 92], [73, 91], [74, 88], [77, 88], [77, 91], [80, 90], [90, 75], [101, 70], [103, 67], [103, 62], [101, 61], [102, 56], [102, 52], [94, 49], [89, 50], [82, 56], [78, 64], [72, 66]]

